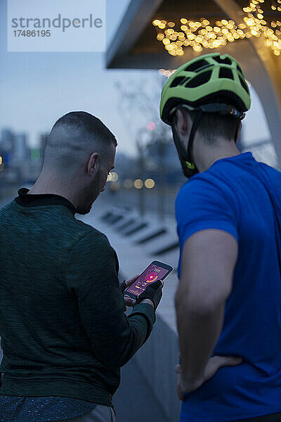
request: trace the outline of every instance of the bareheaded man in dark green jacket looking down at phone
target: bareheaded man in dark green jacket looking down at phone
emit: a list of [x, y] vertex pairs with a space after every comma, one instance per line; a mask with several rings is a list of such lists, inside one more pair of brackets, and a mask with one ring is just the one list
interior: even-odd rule
[[115, 420], [120, 367], [148, 339], [162, 295], [159, 283], [126, 316], [135, 304], [115, 250], [74, 217], [105, 189], [116, 146], [93, 115], [64, 115], [34, 186], [0, 210], [1, 420]]

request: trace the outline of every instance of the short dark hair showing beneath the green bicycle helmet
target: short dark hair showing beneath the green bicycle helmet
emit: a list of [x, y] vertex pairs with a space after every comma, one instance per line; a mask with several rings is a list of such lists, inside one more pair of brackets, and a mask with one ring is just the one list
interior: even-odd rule
[[[189, 111], [186, 108], [181, 108], [183, 113], [188, 113], [194, 122], [197, 115], [196, 111]], [[176, 114], [176, 113], [175, 113]], [[226, 141], [234, 141], [237, 127], [240, 120], [231, 115], [219, 115], [218, 113], [203, 113], [200, 123], [197, 128], [204, 141], [209, 145], [214, 145], [217, 138], [226, 139]]]

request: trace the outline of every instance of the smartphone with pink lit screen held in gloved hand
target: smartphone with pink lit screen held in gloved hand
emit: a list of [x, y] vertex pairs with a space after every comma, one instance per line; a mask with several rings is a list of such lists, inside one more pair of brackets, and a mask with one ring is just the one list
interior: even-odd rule
[[138, 296], [145, 291], [145, 288], [157, 280], [164, 280], [170, 274], [173, 267], [164, 262], [152, 261], [133, 284], [124, 290], [124, 295], [138, 299]]

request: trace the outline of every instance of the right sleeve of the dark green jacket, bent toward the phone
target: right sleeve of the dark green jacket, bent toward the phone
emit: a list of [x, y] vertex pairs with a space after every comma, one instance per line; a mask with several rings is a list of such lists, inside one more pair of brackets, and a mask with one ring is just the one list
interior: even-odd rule
[[155, 323], [151, 305], [136, 305], [127, 317], [117, 278], [118, 260], [107, 237], [96, 229], [70, 251], [67, 288], [77, 298], [81, 323], [93, 354], [106, 366], [121, 367], [148, 339]]

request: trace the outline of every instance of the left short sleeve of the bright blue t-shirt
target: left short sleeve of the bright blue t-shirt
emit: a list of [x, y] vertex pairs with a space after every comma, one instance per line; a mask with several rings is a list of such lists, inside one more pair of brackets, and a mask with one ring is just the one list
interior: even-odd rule
[[176, 197], [180, 246], [197, 231], [220, 229], [239, 241], [237, 210], [229, 192], [204, 177], [188, 181]]

